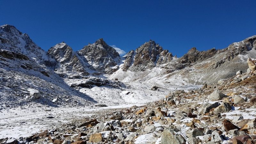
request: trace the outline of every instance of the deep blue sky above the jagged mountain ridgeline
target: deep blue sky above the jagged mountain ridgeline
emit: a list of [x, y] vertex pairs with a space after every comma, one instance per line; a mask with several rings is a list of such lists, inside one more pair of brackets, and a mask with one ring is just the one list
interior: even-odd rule
[[103, 38], [129, 52], [151, 39], [181, 57], [256, 35], [256, 1], [1, 0], [4, 24], [45, 51], [62, 41], [77, 51]]

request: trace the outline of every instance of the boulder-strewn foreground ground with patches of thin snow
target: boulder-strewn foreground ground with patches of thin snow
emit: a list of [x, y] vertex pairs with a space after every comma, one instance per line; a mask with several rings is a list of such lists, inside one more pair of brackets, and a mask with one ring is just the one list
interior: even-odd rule
[[236, 76], [217, 84], [205, 84], [188, 92], [176, 91], [143, 106], [77, 107], [68, 113], [65, 109], [62, 113], [43, 109], [45, 113], [40, 116], [44, 118], [32, 116], [33, 120], [30, 117], [15, 124], [2, 120], [2, 131], [8, 127], [19, 131], [32, 124], [42, 127], [41, 132], [21, 135], [19, 139], [3, 137], [0, 144], [255, 143], [255, 73], [250, 69], [243, 74], [238, 71]]

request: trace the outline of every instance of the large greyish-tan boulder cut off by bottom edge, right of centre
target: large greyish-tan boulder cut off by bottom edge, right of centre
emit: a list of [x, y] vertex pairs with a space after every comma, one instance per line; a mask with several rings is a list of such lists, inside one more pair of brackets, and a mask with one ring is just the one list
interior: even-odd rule
[[184, 137], [172, 129], [164, 129], [161, 138], [162, 144], [186, 144]]

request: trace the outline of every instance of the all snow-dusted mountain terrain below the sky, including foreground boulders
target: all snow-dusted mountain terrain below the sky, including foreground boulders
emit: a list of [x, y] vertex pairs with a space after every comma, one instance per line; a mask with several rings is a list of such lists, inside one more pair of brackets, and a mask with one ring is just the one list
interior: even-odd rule
[[0, 27], [0, 144], [255, 143], [256, 36], [177, 58], [153, 40], [48, 52]]

